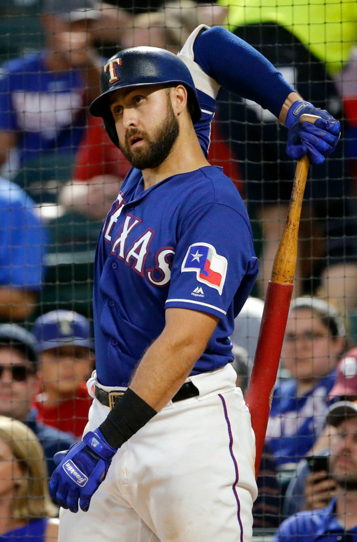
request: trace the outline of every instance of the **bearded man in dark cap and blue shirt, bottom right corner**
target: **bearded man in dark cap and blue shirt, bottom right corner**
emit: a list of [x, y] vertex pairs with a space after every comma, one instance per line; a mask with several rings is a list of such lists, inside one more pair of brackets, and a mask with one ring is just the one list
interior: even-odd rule
[[357, 401], [333, 404], [326, 421], [333, 429], [329, 475], [336, 496], [325, 508], [299, 512], [283, 521], [274, 542], [357, 541]]

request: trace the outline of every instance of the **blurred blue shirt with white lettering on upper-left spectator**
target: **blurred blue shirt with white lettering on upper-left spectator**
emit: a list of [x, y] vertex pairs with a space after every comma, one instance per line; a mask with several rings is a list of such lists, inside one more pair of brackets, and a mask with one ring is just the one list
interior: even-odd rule
[[80, 70], [54, 73], [44, 54], [11, 60], [0, 71], [0, 130], [16, 132], [20, 163], [46, 151], [74, 152], [86, 124]]

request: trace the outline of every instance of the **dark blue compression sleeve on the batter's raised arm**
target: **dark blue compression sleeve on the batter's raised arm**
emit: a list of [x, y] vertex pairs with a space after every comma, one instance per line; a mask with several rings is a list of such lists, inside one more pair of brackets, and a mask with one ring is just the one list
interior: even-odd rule
[[254, 100], [276, 117], [295, 90], [265, 56], [223, 27], [198, 35], [193, 53], [194, 61], [219, 85]]

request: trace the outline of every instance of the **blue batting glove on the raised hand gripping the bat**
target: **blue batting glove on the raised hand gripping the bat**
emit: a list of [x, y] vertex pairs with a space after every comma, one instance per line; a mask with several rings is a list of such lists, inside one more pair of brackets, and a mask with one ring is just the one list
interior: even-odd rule
[[[317, 115], [321, 119], [317, 119], [315, 124], [301, 123], [303, 113]], [[290, 106], [285, 126], [288, 128], [287, 154], [295, 160], [307, 154], [313, 164], [322, 164], [340, 139], [340, 122], [324, 109], [317, 109], [306, 101], [296, 101]]]

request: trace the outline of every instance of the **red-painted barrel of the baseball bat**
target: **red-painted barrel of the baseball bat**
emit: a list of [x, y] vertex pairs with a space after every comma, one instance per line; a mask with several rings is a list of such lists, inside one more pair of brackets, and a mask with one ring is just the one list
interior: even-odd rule
[[[256, 435], [256, 475], [259, 472], [263, 453], [264, 438], [278, 370], [277, 360], [280, 359], [288, 319], [287, 307], [290, 306], [292, 294], [292, 284], [278, 284], [269, 281], [255, 362], [246, 397], [249, 410], [254, 412], [252, 428]], [[264, 360], [264, 363], [256, 363], [256, 360], [259, 359]], [[259, 390], [259, 393], [257, 393], [257, 390]]]

